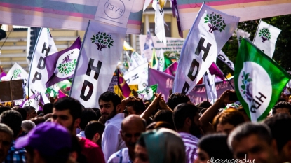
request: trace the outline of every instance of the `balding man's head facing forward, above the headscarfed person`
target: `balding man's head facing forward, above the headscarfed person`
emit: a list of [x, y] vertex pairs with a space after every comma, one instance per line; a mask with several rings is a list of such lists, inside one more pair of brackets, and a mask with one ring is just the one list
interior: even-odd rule
[[146, 122], [138, 115], [128, 115], [121, 123], [121, 136], [130, 153], [135, 151], [135, 143], [146, 131]]

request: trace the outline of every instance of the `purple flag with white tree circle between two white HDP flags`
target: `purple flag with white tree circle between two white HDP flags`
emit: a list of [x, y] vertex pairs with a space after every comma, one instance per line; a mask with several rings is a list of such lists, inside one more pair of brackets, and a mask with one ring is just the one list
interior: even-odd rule
[[81, 39], [78, 37], [71, 47], [55, 52], [53, 55], [46, 57], [46, 70], [48, 71], [48, 82], [46, 87], [50, 87], [62, 80], [72, 78], [76, 68], [81, 48]]

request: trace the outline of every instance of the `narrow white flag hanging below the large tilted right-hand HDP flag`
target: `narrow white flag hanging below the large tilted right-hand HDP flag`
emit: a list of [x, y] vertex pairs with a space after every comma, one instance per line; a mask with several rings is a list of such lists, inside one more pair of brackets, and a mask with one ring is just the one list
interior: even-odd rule
[[205, 90], [207, 92], [207, 99], [210, 100], [211, 104], [214, 104], [217, 100], [217, 92], [215, 87], [215, 76], [212, 76], [208, 71], [203, 76]]

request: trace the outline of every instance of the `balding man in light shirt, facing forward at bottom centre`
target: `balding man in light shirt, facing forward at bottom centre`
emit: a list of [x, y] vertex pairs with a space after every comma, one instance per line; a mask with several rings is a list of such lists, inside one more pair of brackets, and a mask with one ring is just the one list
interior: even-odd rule
[[140, 134], [145, 132], [146, 122], [138, 115], [129, 115], [121, 123], [121, 136], [126, 147], [109, 157], [107, 163], [133, 163], [135, 160], [135, 143]]

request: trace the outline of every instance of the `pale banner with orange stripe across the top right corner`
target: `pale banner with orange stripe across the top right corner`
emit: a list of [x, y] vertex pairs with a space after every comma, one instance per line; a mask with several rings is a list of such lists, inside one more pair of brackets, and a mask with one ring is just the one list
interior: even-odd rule
[[[177, 0], [182, 31], [191, 29], [204, 0]], [[205, 3], [223, 13], [241, 17], [240, 21], [291, 14], [291, 1], [286, 0], [224, 0]]]

